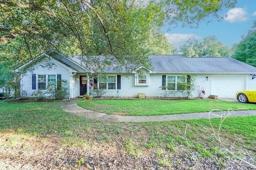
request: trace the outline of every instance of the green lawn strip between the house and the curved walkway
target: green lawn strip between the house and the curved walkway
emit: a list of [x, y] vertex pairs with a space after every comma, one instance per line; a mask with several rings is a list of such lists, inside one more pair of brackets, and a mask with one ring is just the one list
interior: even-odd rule
[[79, 100], [78, 105], [110, 115], [174, 115], [182, 113], [210, 112], [213, 109], [223, 111], [256, 110], [256, 104], [235, 103], [220, 100]]

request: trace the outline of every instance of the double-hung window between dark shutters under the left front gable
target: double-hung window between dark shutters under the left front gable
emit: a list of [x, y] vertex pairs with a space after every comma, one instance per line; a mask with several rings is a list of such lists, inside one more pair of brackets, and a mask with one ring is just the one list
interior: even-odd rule
[[56, 86], [56, 75], [38, 75], [38, 90], [45, 90], [47, 85]]

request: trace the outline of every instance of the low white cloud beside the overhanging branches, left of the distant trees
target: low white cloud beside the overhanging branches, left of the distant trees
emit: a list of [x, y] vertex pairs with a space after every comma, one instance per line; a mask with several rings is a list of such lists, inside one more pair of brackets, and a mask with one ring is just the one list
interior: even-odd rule
[[196, 34], [164, 34], [164, 36], [171, 45], [174, 45], [174, 47], [179, 47], [181, 43], [186, 43], [189, 39], [201, 39], [201, 37]]

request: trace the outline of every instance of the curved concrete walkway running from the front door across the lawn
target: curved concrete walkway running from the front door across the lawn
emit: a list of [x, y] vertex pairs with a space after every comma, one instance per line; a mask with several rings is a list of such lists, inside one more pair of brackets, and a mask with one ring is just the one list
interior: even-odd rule
[[[160, 116], [122, 116], [122, 115], [108, 115], [106, 113], [98, 113], [89, 111], [76, 104], [79, 98], [71, 99], [63, 103], [62, 109], [74, 115], [87, 116], [100, 119], [112, 119], [119, 122], [148, 122], [148, 121], [172, 121], [172, 120], [187, 120], [187, 119], [209, 119], [209, 113], [188, 113], [179, 115], [160, 115]], [[220, 118], [228, 115], [228, 111], [218, 111], [210, 113], [210, 118]], [[232, 111], [229, 117], [254, 116], [254, 111]]]

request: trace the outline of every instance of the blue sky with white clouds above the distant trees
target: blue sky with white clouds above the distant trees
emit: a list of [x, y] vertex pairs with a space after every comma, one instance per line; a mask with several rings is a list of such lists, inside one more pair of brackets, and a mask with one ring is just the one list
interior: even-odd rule
[[234, 43], [239, 43], [242, 36], [246, 36], [249, 30], [253, 30], [253, 22], [256, 20], [256, 0], [237, 0], [233, 9], [223, 9], [220, 15], [227, 17], [218, 22], [217, 18], [210, 18], [212, 22], [200, 23], [198, 28], [178, 26], [168, 31], [168, 26], [163, 26], [161, 31], [166, 36], [168, 42], [178, 48], [184, 45], [190, 38], [195, 38], [198, 42], [203, 42], [208, 36], [216, 36], [218, 42], [232, 47]]

